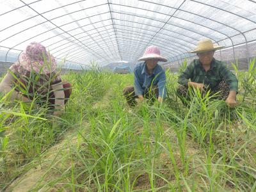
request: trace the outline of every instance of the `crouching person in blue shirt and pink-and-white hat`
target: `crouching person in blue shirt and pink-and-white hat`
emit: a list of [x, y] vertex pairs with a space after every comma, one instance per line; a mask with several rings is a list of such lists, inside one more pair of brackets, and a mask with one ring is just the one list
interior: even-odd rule
[[158, 47], [152, 45], [146, 51], [134, 68], [134, 86], [127, 86], [123, 93], [129, 106], [135, 106], [136, 100], [144, 99], [163, 102], [166, 95], [165, 73], [163, 68], [157, 64], [158, 61], [166, 62], [166, 58], [160, 55]]

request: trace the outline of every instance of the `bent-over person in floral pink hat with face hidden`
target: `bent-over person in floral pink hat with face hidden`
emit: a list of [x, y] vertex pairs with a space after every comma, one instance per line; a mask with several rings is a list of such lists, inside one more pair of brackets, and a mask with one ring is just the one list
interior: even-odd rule
[[59, 116], [70, 97], [71, 84], [61, 82], [56, 68], [55, 59], [45, 47], [32, 42], [4, 76], [0, 83], [0, 93], [10, 92], [12, 100], [36, 99], [40, 106], [48, 101], [47, 108], [53, 109], [53, 115]]

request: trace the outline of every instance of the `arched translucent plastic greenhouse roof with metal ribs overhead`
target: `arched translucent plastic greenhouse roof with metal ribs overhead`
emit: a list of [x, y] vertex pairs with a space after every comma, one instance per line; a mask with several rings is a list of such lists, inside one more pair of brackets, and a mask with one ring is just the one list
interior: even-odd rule
[[81, 65], [135, 62], [148, 45], [173, 61], [205, 37], [225, 47], [256, 40], [256, 1], [1, 0], [0, 6], [6, 61], [33, 41]]

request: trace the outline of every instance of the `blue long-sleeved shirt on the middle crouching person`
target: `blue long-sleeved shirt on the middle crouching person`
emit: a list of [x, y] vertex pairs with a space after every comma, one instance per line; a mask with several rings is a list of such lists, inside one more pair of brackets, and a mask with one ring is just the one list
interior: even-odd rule
[[134, 88], [135, 95], [143, 95], [147, 88], [151, 85], [157, 85], [159, 90], [159, 97], [164, 98], [166, 96], [165, 81], [166, 76], [163, 68], [160, 65], [156, 65], [151, 75], [147, 72], [147, 65], [138, 63], [134, 68]]

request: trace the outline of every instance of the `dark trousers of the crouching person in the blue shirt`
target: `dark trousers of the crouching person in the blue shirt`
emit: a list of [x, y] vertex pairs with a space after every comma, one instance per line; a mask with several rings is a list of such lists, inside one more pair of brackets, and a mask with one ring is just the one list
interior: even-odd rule
[[[135, 99], [138, 98], [138, 96], [135, 95], [134, 86], [126, 86], [123, 89], [123, 94], [129, 106], [136, 105]], [[158, 95], [159, 95], [159, 92], [158, 92], [158, 87], [156, 85], [153, 85], [150, 88], [147, 88], [143, 93], [143, 97], [145, 99], [148, 99], [150, 103], [154, 102], [158, 98]]]

